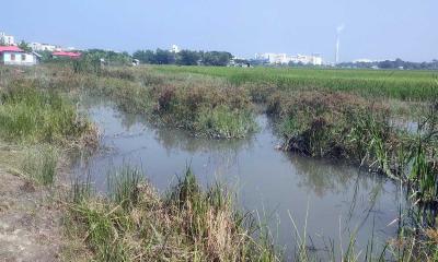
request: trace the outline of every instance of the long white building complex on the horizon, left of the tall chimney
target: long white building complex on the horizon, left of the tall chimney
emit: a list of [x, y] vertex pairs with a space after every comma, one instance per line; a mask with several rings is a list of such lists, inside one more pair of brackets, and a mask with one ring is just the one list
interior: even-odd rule
[[322, 66], [322, 58], [318, 53], [311, 56], [306, 56], [306, 55], [289, 56], [287, 53], [266, 52], [266, 53], [256, 53], [255, 59], [265, 61], [270, 64], [301, 63], [311, 66]]

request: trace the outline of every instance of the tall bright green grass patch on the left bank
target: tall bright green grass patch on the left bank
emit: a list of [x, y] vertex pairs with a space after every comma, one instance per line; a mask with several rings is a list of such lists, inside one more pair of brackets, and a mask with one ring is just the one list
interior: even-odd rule
[[32, 81], [12, 82], [0, 91], [0, 139], [21, 143], [61, 143], [88, 132], [74, 107], [51, 91], [38, 90]]

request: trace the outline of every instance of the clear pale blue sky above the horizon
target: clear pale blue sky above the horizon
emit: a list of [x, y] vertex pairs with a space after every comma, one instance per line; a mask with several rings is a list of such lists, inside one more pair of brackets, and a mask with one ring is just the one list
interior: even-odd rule
[[[13, 0], [0, 32], [65, 47], [438, 59], [438, 0]], [[7, 11], [9, 10], [9, 11]]]

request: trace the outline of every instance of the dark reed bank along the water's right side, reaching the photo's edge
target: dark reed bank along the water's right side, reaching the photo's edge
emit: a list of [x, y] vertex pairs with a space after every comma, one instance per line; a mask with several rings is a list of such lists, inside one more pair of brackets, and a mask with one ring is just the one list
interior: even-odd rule
[[273, 96], [268, 112], [278, 119], [284, 150], [348, 159], [406, 182], [415, 201], [437, 203], [436, 105], [429, 104], [416, 133], [391, 124], [390, 110], [382, 103], [341, 93]]

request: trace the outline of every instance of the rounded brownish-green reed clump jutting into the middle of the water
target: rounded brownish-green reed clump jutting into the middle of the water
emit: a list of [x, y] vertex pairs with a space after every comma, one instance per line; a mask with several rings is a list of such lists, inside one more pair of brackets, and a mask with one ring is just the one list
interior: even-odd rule
[[176, 86], [154, 86], [151, 93], [154, 111], [164, 123], [218, 139], [244, 138], [256, 130], [244, 88], [216, 81]]

